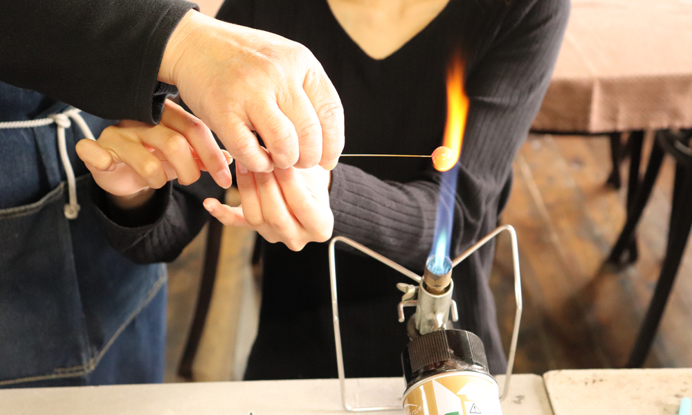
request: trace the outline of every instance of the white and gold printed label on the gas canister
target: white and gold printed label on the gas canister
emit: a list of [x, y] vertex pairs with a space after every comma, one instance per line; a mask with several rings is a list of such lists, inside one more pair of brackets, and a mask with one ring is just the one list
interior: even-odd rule
[[490, 376], [456, 372], [413, 385], [403, 398], [406, 415], [502, 415], [498, 384]]

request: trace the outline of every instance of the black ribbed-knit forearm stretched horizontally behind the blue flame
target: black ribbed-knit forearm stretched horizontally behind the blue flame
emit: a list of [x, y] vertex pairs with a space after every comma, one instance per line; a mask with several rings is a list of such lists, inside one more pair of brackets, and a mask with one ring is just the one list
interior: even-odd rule
[[[435, 233], [439, 175], [396, 183], [341, 164], [332, 178], [334, 236], [354, 239], [412, 269], [425, 264]], [[482, 216], [492, 212], [483, 207], [498, 194], [492, 186], [482, 188], [463, 169], [458, 189], [471, 196], [455, 195], [452, 255], [477, 238]]]

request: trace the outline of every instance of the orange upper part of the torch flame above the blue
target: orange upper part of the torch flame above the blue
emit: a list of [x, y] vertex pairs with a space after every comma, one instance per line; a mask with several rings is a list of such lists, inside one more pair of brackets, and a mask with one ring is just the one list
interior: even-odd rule
[[459, 160], [464, 140], [466, 115], [468, 114], [468, 97], [464, 91], [464, 62], [458, 53], [452, 58], [447, 70], [447, 124], [444, 128], [444, 147], [451, 150], [451, 156], [444, 165], [436, 165], [440, 172], [454, 167]]

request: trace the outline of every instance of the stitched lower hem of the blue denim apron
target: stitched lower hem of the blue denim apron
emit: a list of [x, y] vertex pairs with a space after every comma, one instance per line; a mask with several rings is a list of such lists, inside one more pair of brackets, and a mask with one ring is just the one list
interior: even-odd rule
[[0, 386], [6, 386], [6, 385], [16, 385], [17, 383], [24, 383], [24, 382], [35, 382], [37, 380], [51, 380], [51, 379], [60, 379], [60, 378], [73, 378], [81, 375], [86, 375], [90, 374], [96, 366], [98, 366], [98, 363], [100, 362], [101, 358], [103, 358], [104, 354], [110, 349], [110, 347], [113, 345], [113, 342], [115, 342], [118, 337], [120, 336], [120, 333], [122, 333], [123, 330], [125, 330], [125, 327], [127, 327], [128, 324], [134, 320], [134, 317], [136, 317], [147, 305], [149, 305], [149, 302], [156, 297], [156, 294], [158, 294], [158, 291], [161, 291], [161, 287], [163, 287], [163, 284], [167, 281], [167, 273], [165, 271], [165, 266], [161, 266], [161, 272], [158, 277], [158, 280], [156, 280], [156, 284], [152, 286], [152, 288], [149, 290], [149, 293], [147, 293], [147, 297], [145, 300], [136, 308], [135, 311], [133, 311], [127, 319], [125, 319], [125, 322], [123, 322], [120, 327], [118, 327], [118, 330], [116, 330], [115, 333], [111, 336], [110, 340], [106, 343], [106, 345], [101, 349], [101, 352], [98, 353], [97, 356], [89, 360], [89, 362], [86, 363], [86, 365], [80, 365], [80, 366], [73, 366], [73, 367], [59, 367], [55, 369], [54, 374], [50, 375], [39, 375], [39, 376], [28, 376], [26, 378], [18, 378], [18, 379], [10, 379], [10, 380], [0, 380]]

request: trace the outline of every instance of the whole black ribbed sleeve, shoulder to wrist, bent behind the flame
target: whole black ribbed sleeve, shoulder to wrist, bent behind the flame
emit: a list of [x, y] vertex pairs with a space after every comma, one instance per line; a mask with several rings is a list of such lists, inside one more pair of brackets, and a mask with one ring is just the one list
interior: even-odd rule
[[[495, 42], [466, 77], [471, 100], [459, 160], [452, 256], [483, 237], [499, 214], [511, 164], [527, 137], [552, 75], [567, 26], [568, 0], [512, 2]], [[409, 183], [381, 181], [356, 167], [334, 169], [334, 234], [416, 269], [425, 264], [437, 215], [440, 174]]]

